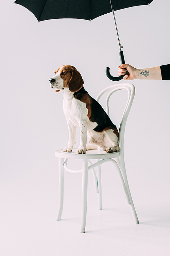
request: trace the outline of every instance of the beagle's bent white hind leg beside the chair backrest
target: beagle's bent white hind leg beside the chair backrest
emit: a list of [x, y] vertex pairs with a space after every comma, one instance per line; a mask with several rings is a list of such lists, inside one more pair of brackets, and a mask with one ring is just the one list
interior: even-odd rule
[[118, 141], [117, 135], [114, 133], [114, 130], [109, 129], [109, 130], [104, 131], [104, 133], [106, 134], [109, 142], [112, 144], [112, 147], [108, 146], [106, 148], [106, 152], [113, 153], [113, 152], [119, 151], [119, 141]]

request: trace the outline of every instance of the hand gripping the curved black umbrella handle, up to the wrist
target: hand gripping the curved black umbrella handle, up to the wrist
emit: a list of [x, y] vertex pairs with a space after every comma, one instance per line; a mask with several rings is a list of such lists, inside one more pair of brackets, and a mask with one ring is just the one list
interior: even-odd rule
[[118, 70], [118, 76], [122, 76], [126, 73], [126, 75], [123, 77], [124, 80], [133, 80], [137, 79], [137, 69], [130, 66], [129, 64], [121, 64]]

